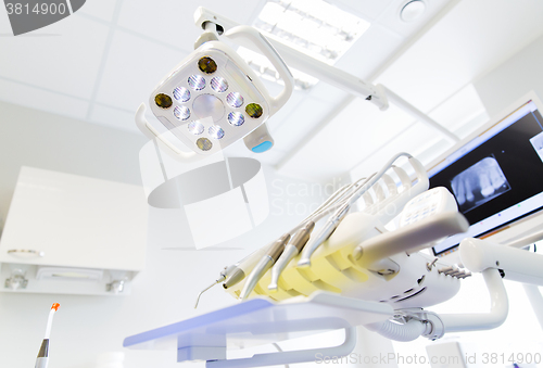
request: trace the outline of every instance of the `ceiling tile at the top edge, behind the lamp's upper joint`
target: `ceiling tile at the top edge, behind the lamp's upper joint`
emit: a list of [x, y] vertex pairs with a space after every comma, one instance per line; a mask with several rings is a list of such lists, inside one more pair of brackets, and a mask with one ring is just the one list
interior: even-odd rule
[[[118, 25], [176, 48], [192, 50], [202, 30], [194, 25], [193, 14], [205, 7], [240, 24], [251, 24], [262, 1], [125, 1]], [[256, 14], [254, 14], [256, 15]]]

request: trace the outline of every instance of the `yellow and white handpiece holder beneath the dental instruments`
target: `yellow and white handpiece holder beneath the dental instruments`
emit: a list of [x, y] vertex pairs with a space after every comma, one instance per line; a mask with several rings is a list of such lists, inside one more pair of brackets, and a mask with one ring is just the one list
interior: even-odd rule
[[[389, 272], [384, 261], [382, 269], [368, 270], [361, 262], [353, 257], [353, 251], [364, 241], [377, 237], [387, 230], [382, 224], [394, 218], [414, 196], [428, 189], [429, 182], [422, 165], [414, 157], [411, 164], [417, 173], [416, 185], [412, 186], [407, 174], [393, 167], [401, 186], [392, 190], [390, 183], [393, 180], [384, 175], [381, 180], [371, 188], [372, 196], [365, 195], [366, 207], [362, 212], [349, 214], [338, 226], [336, 231], [313, 254], [310, 268], [298, 267], [301, 254], [295, 256], [285, 268], [278, 280], [277, 291], [269, 291], [268, 284], [272, 280], [272, 270], [268, 270], [257, 282], [249, 297], [267, 296], [275, 301], [285, 301], [290, 297], [308, 296], [318, 290], [340, 293], [342, 295], [355, 295], [356, 289], [367, 282], [370, 278], [393, 278]], [[383, 186], [388, 188], [383, 191]], [[383, 195], [388, 192], [389, 195]], [[367, 192], [369, 194], [369, 191]], [[389, 275], [390, 274], [390, 275]], [[239, 297], [244, 282], [240, 282], [229, 289], [235, 297]], [[376, 287], [380, 282], [371, 282]]]

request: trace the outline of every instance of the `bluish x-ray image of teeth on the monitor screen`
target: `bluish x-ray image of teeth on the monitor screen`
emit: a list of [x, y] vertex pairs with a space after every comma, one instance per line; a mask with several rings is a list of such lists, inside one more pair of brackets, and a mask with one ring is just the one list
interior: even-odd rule
[[456, 175], [451, 180], [451, 187], [464, 214], [510, 189], [494, 155], [482, 158]]

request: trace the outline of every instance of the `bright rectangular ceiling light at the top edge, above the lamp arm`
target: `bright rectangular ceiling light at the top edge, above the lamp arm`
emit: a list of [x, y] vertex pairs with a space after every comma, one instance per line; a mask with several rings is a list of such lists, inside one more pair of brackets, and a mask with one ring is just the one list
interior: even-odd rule
[[323, 0], [272, 0], [254, 26], [266, 37], [333, 64], [370, 24]]

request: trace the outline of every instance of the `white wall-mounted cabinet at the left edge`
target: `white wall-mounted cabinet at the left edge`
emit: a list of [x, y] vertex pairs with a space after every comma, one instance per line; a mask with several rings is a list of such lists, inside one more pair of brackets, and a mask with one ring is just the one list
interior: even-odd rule
[[142, 187], [22, 167], [0, 241], [0, 290], [21, 269], [28, 284], [17, 292], [108, 294], [115, 275], [129, 281], [143, 269], [147, 225]]

